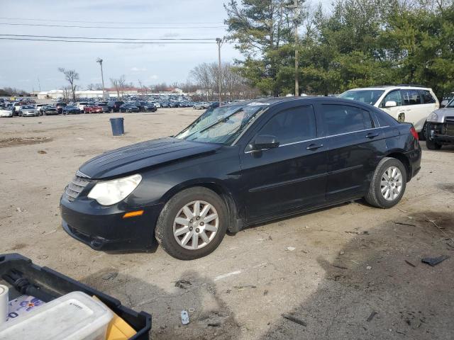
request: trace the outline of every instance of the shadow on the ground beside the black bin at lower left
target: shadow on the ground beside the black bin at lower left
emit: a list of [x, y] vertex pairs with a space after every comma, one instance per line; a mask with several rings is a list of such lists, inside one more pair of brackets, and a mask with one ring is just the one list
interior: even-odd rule
[[[127, 271], [127, 270], [126, 270]], [[120, 300], [135, 311], [152, 315], [150, 339], [236, 339], [240, 326], [235, 315], [216, 291], [214, 282], [195, 271], [186, 271], [168, 289], [148, 283], [159, 275], [144, 272], [141, 278], [104, 268], [81, 280]], [[189, 312], [189, 324], [182, 325], [181, 312]]]

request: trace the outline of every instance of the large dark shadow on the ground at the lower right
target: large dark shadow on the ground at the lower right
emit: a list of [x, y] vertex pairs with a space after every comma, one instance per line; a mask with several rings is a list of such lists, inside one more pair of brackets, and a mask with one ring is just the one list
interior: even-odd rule
[[[306, 326], [282, 317], [262, 339], [452, 339], [454, 213], [418, 212], [362, 229], [334, 259], [317, 258], [325, 271], [319, 288], [289, 306]], [[452, 258], [421, 263], [441, 255]]]

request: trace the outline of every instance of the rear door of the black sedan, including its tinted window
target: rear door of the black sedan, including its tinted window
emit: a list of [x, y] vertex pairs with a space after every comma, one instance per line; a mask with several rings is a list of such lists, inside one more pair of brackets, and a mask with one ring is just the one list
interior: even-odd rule
[[386, 149], [384, 129], [370, 111], [353, 103], [320, 103], [323, 130], [328, 146], [326, 200], [333, 202], [363, 195]]

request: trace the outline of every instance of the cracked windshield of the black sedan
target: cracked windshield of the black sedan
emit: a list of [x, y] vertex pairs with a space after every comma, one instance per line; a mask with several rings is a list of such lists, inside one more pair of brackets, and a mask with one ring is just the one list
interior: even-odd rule
[[209, 108], [176, 138], [229, 144], [243, 132], [266, 106], [221, 106]]

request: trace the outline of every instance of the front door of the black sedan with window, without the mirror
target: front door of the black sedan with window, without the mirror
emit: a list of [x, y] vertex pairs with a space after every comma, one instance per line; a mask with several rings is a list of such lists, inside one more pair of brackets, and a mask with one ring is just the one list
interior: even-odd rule
[[323, 138], [317, 138], [314, 108], [278, 111], [258, 128], [253, 140], [257, 135], [277, 137], [279, 147], [261, 151], [247, 147], [240, 155], [249, 220], [323, 203], [327, 148]]

